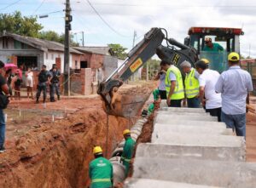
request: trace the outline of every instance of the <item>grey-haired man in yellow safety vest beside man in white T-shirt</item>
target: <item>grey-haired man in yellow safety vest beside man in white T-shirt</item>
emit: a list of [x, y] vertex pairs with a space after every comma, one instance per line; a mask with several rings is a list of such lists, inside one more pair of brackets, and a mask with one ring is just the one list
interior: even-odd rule
[[188, 102], [189, 108], [199, 108], [199, 73], [195, 71], [195, 68], [191, 67], [189, 61], [184, 60], [180, 67], [186, 74], [185, 77], [185, 94]]

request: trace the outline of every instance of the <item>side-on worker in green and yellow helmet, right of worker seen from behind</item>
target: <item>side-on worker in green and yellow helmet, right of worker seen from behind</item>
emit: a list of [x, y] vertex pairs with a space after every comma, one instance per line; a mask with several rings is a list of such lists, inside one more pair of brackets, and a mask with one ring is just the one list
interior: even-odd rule
[[123, 135], [125, 138], [125, 145], [121, 162], [123, 162], [125, 166], [125, 176], [127, 177], [130, 169], [131, 158], [133, 156], [135, 141], [131, 139], [131, 131], [129, 129], [125, 129]]

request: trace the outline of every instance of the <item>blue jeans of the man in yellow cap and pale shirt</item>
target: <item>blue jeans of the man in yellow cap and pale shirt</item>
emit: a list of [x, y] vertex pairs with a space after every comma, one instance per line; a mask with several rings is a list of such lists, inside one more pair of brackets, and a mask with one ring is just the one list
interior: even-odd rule
[[246, 113], [229, 115], [221, 111], [221, 121], [226, 123], [227, 128], [236, 130], [237, 136], [246, 137]]

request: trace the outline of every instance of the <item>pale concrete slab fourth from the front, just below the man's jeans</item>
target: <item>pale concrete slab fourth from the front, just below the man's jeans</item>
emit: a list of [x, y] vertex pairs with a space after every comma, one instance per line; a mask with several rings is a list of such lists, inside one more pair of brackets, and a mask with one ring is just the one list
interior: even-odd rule
[[191, 145], [191, 146], [212, 146], [212, 147], [245, 147], [245, 140], [239, 136], [229, 135], [205, 135], [205, 134], [160, 134], [158, 138], [152, 137], [152, 143]]

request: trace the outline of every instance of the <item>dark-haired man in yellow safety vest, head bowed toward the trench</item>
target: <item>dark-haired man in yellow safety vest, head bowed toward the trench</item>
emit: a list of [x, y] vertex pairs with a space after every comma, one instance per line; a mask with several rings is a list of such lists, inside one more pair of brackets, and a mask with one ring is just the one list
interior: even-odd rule
[[166, 71], [167, 105], [170, 107], [181, 107], [181, 101], [185, 97], [181, 72], [168, 60], [162, 60], [160, 66], [161, 70]]

